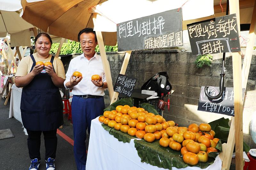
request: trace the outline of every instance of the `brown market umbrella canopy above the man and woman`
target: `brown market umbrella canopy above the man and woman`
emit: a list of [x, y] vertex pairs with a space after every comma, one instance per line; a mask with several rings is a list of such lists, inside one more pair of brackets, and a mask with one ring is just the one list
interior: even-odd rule
[[[52, 35], [77, 41], [80, 30], [93, 28], [88, 9], [106, 0], [21, 0], [22, 18]], [[45, 12], [47, 11], [47, 12]], [[116, 33], [103, 33], [106, 45], [116, 45]]]

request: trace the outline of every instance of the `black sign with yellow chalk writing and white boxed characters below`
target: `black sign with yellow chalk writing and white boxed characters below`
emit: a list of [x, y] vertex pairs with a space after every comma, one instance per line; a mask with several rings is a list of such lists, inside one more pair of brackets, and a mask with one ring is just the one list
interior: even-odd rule
[[236, 14], [188, 25], [193, 55], [241, 51]]

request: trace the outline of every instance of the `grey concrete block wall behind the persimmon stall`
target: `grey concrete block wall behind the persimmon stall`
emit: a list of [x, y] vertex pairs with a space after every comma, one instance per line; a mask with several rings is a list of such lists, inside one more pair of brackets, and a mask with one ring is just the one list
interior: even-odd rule
[[[242, 52], [242, 63], [244, 54]], [[111, 68], [113, 84], [122, 67], [124, 52], [107, 53]], [[157, 72], [167, 71], [169, 82], [174, 92], [171, 95], [170, 111], [164, 110], [164, 118], [173, 120], [179, 126], [188, 126], [191, 123], [208, 123], [221, 117], [230, 116], [197, 111], [201, 86], [219, 86], [222, 68], [222, 53], [213, 55], [211, 67], [196, 68], [196, 56], [191, 52], [180, 52], [179, 50], [143, 50], [132, 51], [127, 67], [126, 75], [137, 78], [136, 88], [140, 88], [149, 78]], [[248, 66], [249, 67], [249, 66]], [[226, 75], [225, 86], [233, 87], [233, 71], [231, 53], [226, 53], [225, 61]], [[256, 98], [256, 51], [253, 52], [249, 78], [245, 93], [243, 112], [244, 141], [256, 148], [250, 132], [250, 123], [253, 113], [256, 114], [256, 106], [253, 100]], [[167, 101], [165, 99], [165, 101]], [[109, 106], [110, 99], [105, 95], [105, 105]]]

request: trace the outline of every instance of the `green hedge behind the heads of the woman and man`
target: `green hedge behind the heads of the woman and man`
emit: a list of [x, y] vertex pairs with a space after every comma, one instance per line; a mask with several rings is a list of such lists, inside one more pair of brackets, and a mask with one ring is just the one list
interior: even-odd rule
[[[52, 48], [50, 50], [51, 54], [56, 54], [60, 43], [53, 43]], [[97, 45], [95, 48], [96, 52], [100, 52], [99, 46]], [[105, 51], [117, 51], [117, 45], [116, 46], [105, 46]], [[62, 48], [60, 50], [60, 55], [67, 55], [67, 54], [75, 54], [75, 53], [83, 53], [80, 43], [76, 41], [68, 40], [67, 43], [64, 43], [62, 45]]]

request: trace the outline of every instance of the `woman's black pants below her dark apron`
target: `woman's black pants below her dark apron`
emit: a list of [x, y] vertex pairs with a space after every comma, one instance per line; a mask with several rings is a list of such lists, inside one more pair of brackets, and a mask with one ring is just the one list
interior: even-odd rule
[[56, 157], [57, 150], [57, 129], [50, 131], [31, 131], [28, 132], [28, 152], [30, 159], [41, 159], [40, 146], [41, 146], [41, 134], [44, 134], [44, 146], [45, 146], [45, 160], [48, 158]]

